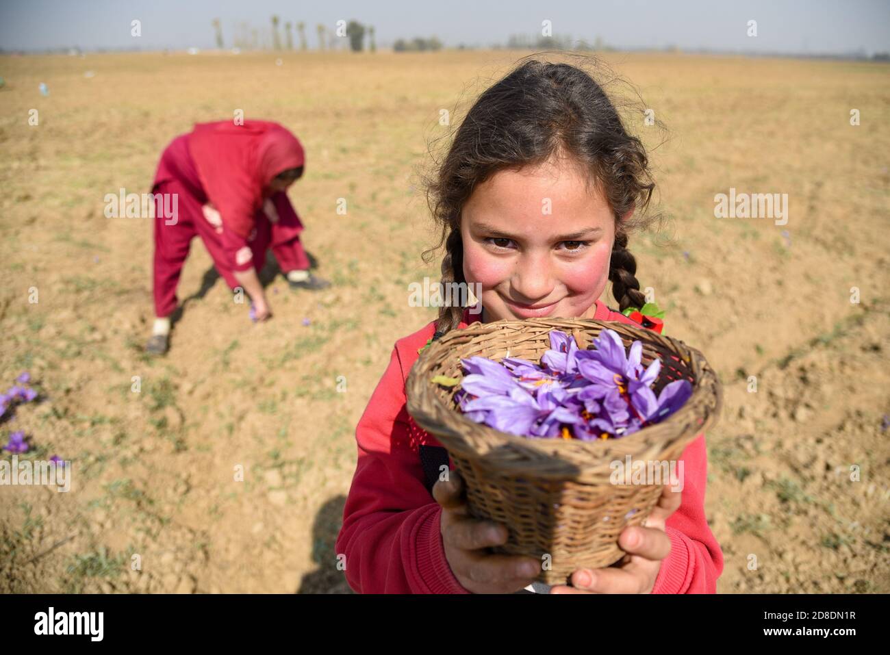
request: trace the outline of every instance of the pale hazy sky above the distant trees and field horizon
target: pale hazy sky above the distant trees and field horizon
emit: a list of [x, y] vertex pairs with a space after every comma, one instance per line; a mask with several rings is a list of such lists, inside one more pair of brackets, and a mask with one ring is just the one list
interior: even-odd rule
[[[511, 35], [540, 35], [550, 20], [554, 36], [589, 43], [600, 36], [619, 49], [890, 52], [890, 0], [0, 0], [0, 49], [210, 48], [214, 18], [231, 47], [236, 26], [270, 30], [272, 14], [282, 23], [303, 20], [311, 48], [315, 26], [333, 29], [337, 20], [373, 25], [380, 47], [415, 36], [437, 36], [450, 47], [506, 44]], [[141, 36], [131, 34], [132, 20], [141, 21]], [[748, 36], [748, 20], [756, 20], [757, 36]]]

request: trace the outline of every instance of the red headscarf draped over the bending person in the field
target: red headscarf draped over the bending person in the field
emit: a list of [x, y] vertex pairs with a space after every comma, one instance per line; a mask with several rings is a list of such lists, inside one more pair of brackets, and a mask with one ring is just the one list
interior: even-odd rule
[[207, 198], [223, 224], [243, 238], [254, 228], [271, 179], [305, 162], [297, 138], [271, 121], [198, 123], [188, 139]]

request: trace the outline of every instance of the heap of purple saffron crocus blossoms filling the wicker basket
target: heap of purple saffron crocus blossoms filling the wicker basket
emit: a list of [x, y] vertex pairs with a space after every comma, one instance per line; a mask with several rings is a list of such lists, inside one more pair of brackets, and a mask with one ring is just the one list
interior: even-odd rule
[[692, 395], [692, 384], [677, 380], [655, 396], [661, 362], [643, 367], [643, 344], [627, 352], [614, 330], [604, 329], [595, 350], [582, 351], [574, 338], [550, 333], [551, 348], [541, 363], [508, 357], [461, 360], [466, 375], [457, 405], [477, 423], [522, 436], [592, 441], [627, 436], [657, 423]]

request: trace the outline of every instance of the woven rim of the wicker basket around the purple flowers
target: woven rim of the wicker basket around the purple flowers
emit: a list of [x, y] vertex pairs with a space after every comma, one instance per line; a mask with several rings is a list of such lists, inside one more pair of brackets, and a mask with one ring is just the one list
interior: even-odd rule
[[[505, 433], [500, 430], [496, 430], [490, 425], [479, 424], [468, 418], [463, 412], [461, 412], [456, 407], [449, 407], [448, 404], [441, 399], [439, 393], [434, 391], [435, 385], [429, 380], [420, 380], [419, 369], [422, 367], [423, 362], [429, 360], [434, 355], [439, 353], [442, 350], [446, 350], [449, 348], [449, 344], [452, 340], [456, 338], [462, 338], [466, 336], [467, 330], [473, 330], [478, 333], [478, 336], [487, 335], [491, 332], [502, 330], [502, 329], [512, 329], [518, 328], [522, 326], [528, 326], [529, 324], [537, 324], [541, 327], [548, 327], [554, 320], [559, 321], [569, 321], [575, 324], [576, 327], [600, 327], [601, 332], [603, 329], [611, 329], [616, 324], [620, 325], [620, 327], [624, 330], [627, 330], [634, 336], [635, 341], [643, 341], [650, 343], [653, 341], [657, 341], [658, 339], [667, 342], [668, 344], [672, 344], [674, 349], [677, 351], [677, 355], [681, 356], [684, 361], [686, 361], [692, 367], [692, 370], [696, 372], [697, 375], [694, 376], [694, 380], [692, 382], [692, 394], [690, 397], [684, 402], [683, 407], [679, 408], [676, 412], [667, 416], [663, 421], [659, 421], [657, 424], [646, 426], [635, 433], [628, 434], [627, 436], [620, 437], [619, 439], [597, 439], [595, 441], [583, 441], [579, 439], [557, 439], [557, 438], [544, 438], [544, 437], [533, 437], [533, 436], [521, 436], [513, 433]], [[561, 329], [560, 327], [548, 327], [548, 330]], [[653, 335], [657, 335], [657, 339], [653, 337]], [[477, 335], [473, 335], [477, 336]], [[569, 333], [569, 336], [572, 336]], [[619, 335], [620, 336], [620, 335]], [[472, 337], [471, 337], [472, 338]], [[624, 343], [624, 339], [622, 339], [622, 343]], [[625, 346], [627, 348], [627, 346]], [[662, 364], [665, 362], [662, 361]], [[704, 386], [704, 381], [708, 376], [713, 377], [714, 386], [716, 389], [716, 408], [715, 411], [708, 416], [707, 420], [701, 420], [700, 416], [693, 414], [695, 412], [696, 404], [692, 402], [697, 393], [702, 391]], [[419, 385], [419, 386], [418, 386]], [[424, 392], [424, 388], [426, 387], [426, 391]], [[425, 411], [420, 407], [420, 399], [417, 397], [417, 393], [412, 393], [412, 390], [419, 390], [425, 394], [426, 400], [432, 402], [435, 411], [433, 412], [433, 416], [431, 416], [430, 412]], [[610, 449], [614, 446], [615, 441], [622, 441], [625, 446], [632, 446], [636, 441], [643, 441], [643, 439], [649, 434], [646, 432], [654, 427], [659, 427], [659, 429], [663, 432], [668, 432], [671, 427], [678, 426], [682, 423], [694, 424], [696, 418], [700, 419], [701, 422], [698, 427], [695, 428], [693, 432], [693, 436], [697, 435], [701, 432], [706, 431], [710, 426], [716, 423], [716, 418], [719, 415], [720, 407], [721, 407], [721, 392], [720, 392], [720, 383], [716, 378], [716, 374], [713, 369], [711, 369], [708, 365], [708, 361], [705, 359], [704, 355], [692, 348], [691, 346], [685, 344], [682, 340], [676, 339], [671, 336], [658, 335], [658, 333], [653, 333], [651, 330], [645, 327], [638, 327], [628, 325], [626, 323], [619, 323], [618, 321], [609, 321], [609, 320], [601, 320], [601, 319], [580, 319], [580, 318], [558, 318], [558, 319], [524, 319], [524, 320], [513, 320], [513, 319], [500, 319], [497, 321], [491, 321], [489, 323], [480, 323], [474, 322], [469, 326], [460, 328], [457, 330], [451, 330], [437, 341], [433, 341], [433, 343], [429, 344], [423, 352], [420, 353], [419, 357], [415, 361], [414, 365], [411, 367], [411, 371], [409, 373], [409, 378], [407, 380], [406, 389], [408, 390], [408, 408], [409, 414], [411, 416], [416, 416], [419, 414], [420, 416], [425, 416], [428, 419], [431, 419], [431, 422], [440, 423], [439, 419], [435, 414], [439, 414], [441, 416], [448, 416], [449, 423], [456, 425], [445, 425], [448, 428], [457, 428], [461, 425], [469, 428], [473, 426], [474, 429], [481, 429], [484, 433], [488, 433], [491, 437], [496, 437], [499, 440], [503, 440], [506, 445], [513, 446], [517, 449], [522, 450], [538, 450], [543, 455], [544, 449], [548, 451], [546, 454], [550, 457], [554, 455], [554, 453], [568, 453], [568, 452], [578, 452], [585, 453], [588, 455], [599, 455], [606, 449]], [[457, 432], [457, 431], [456, 431]], [[681, 431], [682, 432], [682, 431]], [[458, 438], [463, 438], [459, 432], [457, 433]], [[665, 439], [665, 441], [669, 441]], [[689, 438], [689, 441], [692, 441], [692, 438]]]

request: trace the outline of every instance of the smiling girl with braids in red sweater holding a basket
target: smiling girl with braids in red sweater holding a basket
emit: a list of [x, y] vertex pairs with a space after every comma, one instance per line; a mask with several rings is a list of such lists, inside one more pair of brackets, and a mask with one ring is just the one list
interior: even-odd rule
[[[447, 253], [442, 281], [481, 284], [481, 321], [539, 316], [632, 323], [598, 300], [611, 280], [621, 311], [645, 298], [627, 251], [654, 189], [643, 145], [603, 89], [569, 64], [527, 61], [482, 93], [428, 189]], [[545, 211], [542, 208], [549, 210]], [[473, 287], [475, 288], [475, 287]], [[665, 488], [627, 552], [571, 586], [530, 582], [540, 560], [490, 554], [506, 528], [471, 519], [449, 458], [405, 407], [418, 349], [475, 318], [460, 307], [395, 344], [356, 430], [358, 465], [336, 542], [362, 593], [715, 593], [723, 554], [704, 513], [704, 435], [684, 450], [684, 489]]]

